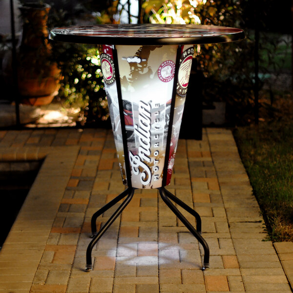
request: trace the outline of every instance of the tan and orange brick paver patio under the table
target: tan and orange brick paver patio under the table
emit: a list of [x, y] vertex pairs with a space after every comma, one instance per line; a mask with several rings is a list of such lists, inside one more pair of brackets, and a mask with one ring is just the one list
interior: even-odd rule
[[124, 190], [112, 134], [0, 131], [0, 161], [41, 159], [0, 251], [0, 293], [292, 292], [293, 243], [275, 244], [279, 259], [272, 242], [262, 241], [263, 219], [230, 130], [180, 140], [167, 187], [202, 216], [205, 272], [202, 248], [157, 189], [136, 190], [94, 249], [94, 270], [84, 272], [91, 215]]

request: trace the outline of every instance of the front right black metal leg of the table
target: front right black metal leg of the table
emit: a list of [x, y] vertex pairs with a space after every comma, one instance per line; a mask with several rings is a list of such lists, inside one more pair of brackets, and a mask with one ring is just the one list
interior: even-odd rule
[[[165, 204], [172, 210], [172, 212], [179, 218], [179, 220], [186, 226], [186, 228], [193, 234], [193, 236], [198, 240], [198, 242], [204, 248], [204, 263], [202, 270], [209, 269], [209, 246], [206, 240], [194, 229], [194, 227], [188, 222], [185, 216], [172, 204], [168, 197], [170, 197], [170, 192], [164, 187], [158, 188], [160, 195], [165, 202]], [[167, 195], [167, 194], [168, 195]]]

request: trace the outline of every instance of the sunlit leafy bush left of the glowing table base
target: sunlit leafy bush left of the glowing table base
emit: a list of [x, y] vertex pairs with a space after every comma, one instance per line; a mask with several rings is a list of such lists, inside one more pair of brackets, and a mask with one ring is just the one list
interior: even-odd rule
[[[86, 11], [86, 6], [78, 11]], [[102, 5], [105, 8], [105, 4]], [[73, 11], [73, 14], [78, 13]], [[62, 27], [74, 24], [74, 15], [69, 10], [53, 7], [50, 11], [48, 27]], [[104, 90], [103, 74], [100, 67], [99, 52], [93, 45], [66, 42], [51, 42], [52, 58], [62, 69], [63, 80], [59, 97], [67, 105], [81, 108], [80, 124], [103, 124], [108, 119], [107, 99]]]

